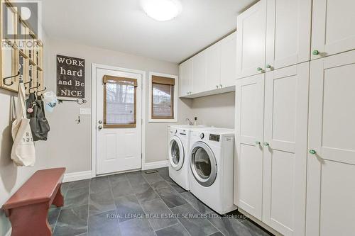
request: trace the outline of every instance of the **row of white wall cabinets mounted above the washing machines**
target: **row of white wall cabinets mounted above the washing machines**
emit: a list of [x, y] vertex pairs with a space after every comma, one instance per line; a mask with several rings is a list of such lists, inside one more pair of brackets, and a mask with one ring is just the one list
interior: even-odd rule
[[234, 91], [236, 33], [228, 35], [187, 62], [180, 64], [180, 79], [182, 97], [195, 98]]

